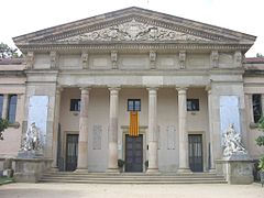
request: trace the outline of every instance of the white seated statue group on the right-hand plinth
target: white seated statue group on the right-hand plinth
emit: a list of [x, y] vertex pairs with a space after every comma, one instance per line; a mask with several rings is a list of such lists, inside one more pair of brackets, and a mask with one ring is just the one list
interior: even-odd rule
[[241, 143], [241, 136], [234, 131], [233, 124], [231, 123], [223, 134], [223, 155], [230, 156], [234, 153], [245, 154], [246, 151]]

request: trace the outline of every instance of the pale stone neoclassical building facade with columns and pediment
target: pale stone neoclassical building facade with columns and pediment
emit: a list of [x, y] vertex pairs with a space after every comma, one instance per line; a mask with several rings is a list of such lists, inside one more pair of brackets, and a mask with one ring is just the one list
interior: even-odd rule
[[[215, 172], [230, 123], [252, 158], [264, 108], [255, 36], [128, 8], [14, 37], [24, 59], [0, 62], [0, 110], [14, 156], [35, 122], [53, 168]], [[139, 113], [131, 136], [130, 111]]]

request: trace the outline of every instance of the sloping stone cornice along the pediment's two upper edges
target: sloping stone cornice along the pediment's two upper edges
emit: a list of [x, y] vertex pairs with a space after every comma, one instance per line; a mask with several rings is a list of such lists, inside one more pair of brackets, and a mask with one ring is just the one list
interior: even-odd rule
[[249, 42], [255, 36], [141, 8], [128, 8], [14, 37], [16, 45], [55, 43], [57, 40], [101, 30], [135, 20], [211, 41]]

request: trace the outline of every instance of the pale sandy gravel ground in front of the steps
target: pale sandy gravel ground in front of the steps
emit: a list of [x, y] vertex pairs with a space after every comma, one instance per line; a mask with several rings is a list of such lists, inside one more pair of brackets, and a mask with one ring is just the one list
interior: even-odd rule
[[101, 185], [9, 184], [0, 198], [264, 198], [264, 187], [253, 185]]

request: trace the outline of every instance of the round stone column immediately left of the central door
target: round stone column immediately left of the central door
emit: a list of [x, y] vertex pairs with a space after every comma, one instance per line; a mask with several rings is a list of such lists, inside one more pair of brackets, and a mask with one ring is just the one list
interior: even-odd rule
[[109, 153], [108, 153], [108, 173], [119, 173], [118, 168], [118, 107], [119, 90], [113, 87], [110, 90], [110, 116], [109, 116]]

